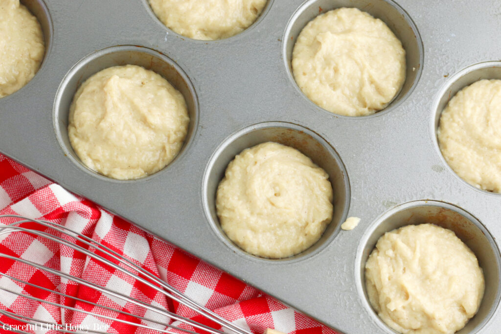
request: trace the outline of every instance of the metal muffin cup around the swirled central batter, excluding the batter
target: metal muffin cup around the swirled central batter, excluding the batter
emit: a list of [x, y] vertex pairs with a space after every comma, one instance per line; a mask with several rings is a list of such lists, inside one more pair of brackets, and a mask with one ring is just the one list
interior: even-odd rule
[[[334, 212], [331, 223], [320, 239], [307, 250], [282, 259], [267, 259], [249, 254], [236, 246], [223, 232], [216, 214], [215, 198], [219, 182], [224, 177], [227, 165], [246, 148], [265, 142], [277, 142], [299, 150], [329, 174], [334, 191]], [[346, 169], [336, 151], [319, 135], [299, 125], [284, 122], [268, 122], [244, 128], [216, 149], [205, 169], [203, 179], [203, 206], [207, 219], [218, 237], [234, 251], [246, 257], [265, 261], [291, 261], [307, 258], [325, 248], [339, 232], [346, 219], [350, 203], [350, 184]]]

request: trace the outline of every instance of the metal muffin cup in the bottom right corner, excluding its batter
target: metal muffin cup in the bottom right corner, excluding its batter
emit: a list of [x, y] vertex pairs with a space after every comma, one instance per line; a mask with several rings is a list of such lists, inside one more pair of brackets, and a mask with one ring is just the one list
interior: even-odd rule
[[374, 321], [388, 332], [396, 332], [383, 322], [372, 308], [365, 286], [365, 262], [384, 233], [406, 225], [431, 223], [452, 230], [475, 254], [485, 279], [485, 291], [478, 312], [457, 333], [476, 333], [494, 314], [501, 289], [501, 257], [487, 229], [463, 209], [439, 201], [415, 201], [399, 205], [383, 214], [364, 234], [357, 252], [355, 272], [363, 304]]

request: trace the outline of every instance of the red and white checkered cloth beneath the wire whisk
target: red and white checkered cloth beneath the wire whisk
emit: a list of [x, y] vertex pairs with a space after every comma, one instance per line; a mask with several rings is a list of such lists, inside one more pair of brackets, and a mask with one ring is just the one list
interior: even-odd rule
[[[96, 204], [67, 192], [61, 186], [0, 155], [0, 215], [4, 214], [49, 220], [89, 236], [123, 254], [136, 264], [140, 264], [217, 314], [255, 333], [261, 334], [266, 328], [275, 328], [294, 334], [336, 333], [256, 288], [159, 240], [154, 235], [142, 231]], [[14, 219], [11, 218], [0, 218], [0, 224], [13, 221]], [[163, 294], [132, 280], [130, 276], [86, 259], [81, 253], [74, 252], [67, 246], [49, 242], [45, 238], [37, 238], [35, 235], [26, 233], [0, 236], [0, 252], [57, 268], [102, 286], [113, 287], [115, 290], [123, 291], [149, 304], [220, 329], [213, 322], [177, 302], [166, 299]], [[93, 293], [92, 300], [101, 304], [122, 307], [135, 315], [145, 315], [144, 309], [135, 310], [132, 305], [125, 304], [122, 300], [104, 296], [96, 290], [78, 285], [73, 281], [61, 279], [59, 276], [36, 270], [33, 267], [26, 270], [26, 266], [19, 261], [2, 258], [0, 271], [73, 296], [87, 295], [89, 297], [88, 294]], [[70, 300], [60, 300], [55, 293], [23, 286], [5, 276], [0, 277], [0, 286], [44, 300], [75, 305], [77, 308], [89, 307], [78, 302], [75, 304], [75, 301], [70, 298], [68, 298]], [[105, 320], [80, 312], [64, 311], [59, 307], [28, 300], [3, 290], [0, 290], [0, 308], [18, 315], [31, 316], [62, 325], [71, 324], [76, 328], [83, 328], [84, 325], [92, 328], [97, 325], [100, 330], [109, 333], [152, 332], [144, 328], [136, 329], [135, 326], [124, 325], [114, 320]], [[146, 314], [146, 316], [152, 316], [152, 314]], [[153, 317], [162, 323], [172, 322], [163, 315], [155, 314]], [[18, 328], [22, 325], [21, 322], [16, 322], [5, 315], [0, 316], [0, 320], [17, 325]], [[131, 317], [130, 320], [139, 321], [135, 317]], [[9, 332], [9, 330], [2, 329], [0, 326], [0, 332]], [[52, 334], [58, 331], [39, 327], [37, 330], [28, 330], [28, 332]]]

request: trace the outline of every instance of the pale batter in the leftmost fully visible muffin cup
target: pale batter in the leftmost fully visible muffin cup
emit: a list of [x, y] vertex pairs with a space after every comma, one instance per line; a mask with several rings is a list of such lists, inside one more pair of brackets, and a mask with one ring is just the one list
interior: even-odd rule
[[177, 155], [189, 117], [183, 96], [135, 65], [98, 72], [78, 89], [68, 135], [89, 168], [120, 179], [153, 174]]

